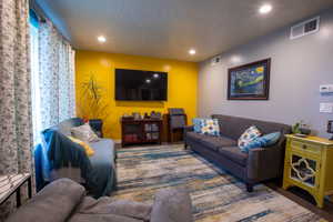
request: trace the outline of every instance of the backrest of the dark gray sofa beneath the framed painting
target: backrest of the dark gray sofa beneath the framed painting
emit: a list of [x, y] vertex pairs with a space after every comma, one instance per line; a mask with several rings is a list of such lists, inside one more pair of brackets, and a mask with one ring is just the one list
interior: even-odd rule
[[[269, 122], [262, 120], [253, 120], [248, 118], [239, 118], [223, 114], [213, 114], [213, 119], [219, 120], [221, 134], [228, 138], [238, 140], [242, 133], [252, 125], [255, 125], [262, 134], [269, 134], [272, 132], [281, 132], [281, 134], [291, 133], [291, 127], [276, 122]], [[284, 140], [284, 137], [281, 137]]]

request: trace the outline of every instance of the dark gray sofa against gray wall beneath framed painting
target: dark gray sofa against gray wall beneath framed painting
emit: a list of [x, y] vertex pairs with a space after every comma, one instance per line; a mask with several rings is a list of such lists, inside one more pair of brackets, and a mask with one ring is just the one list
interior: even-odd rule
[[221, 135], [195, 133], [193, 127], [188, 127], [184, 132], [185, 148], [190, 147], [194, 152], [243, 180], [249, 192], [253, 191], [255, 183], [282, 175], [284, 137], [273, 147], [252, 149], [249, 153], [241, 152], [238, 139], [251, 125], [256, 125], [264, 134], [279, 131], [282, 135], [290, 133], [291, 127], [221, 114], [213, 114], [212, 118], [219, 120]]

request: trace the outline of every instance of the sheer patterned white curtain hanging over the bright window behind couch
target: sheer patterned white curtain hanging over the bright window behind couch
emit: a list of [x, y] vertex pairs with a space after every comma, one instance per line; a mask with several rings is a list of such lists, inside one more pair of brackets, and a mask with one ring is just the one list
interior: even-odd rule
[[40, 130], [75, 117], [74, 50], [50, 21], [39, 26]]

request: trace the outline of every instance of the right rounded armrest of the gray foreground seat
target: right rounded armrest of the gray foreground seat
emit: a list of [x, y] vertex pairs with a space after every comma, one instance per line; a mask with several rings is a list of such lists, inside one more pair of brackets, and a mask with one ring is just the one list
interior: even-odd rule
[[158, 192], [150, 222], [193, 222], [189, 192], [184, 189], [165, 189]]

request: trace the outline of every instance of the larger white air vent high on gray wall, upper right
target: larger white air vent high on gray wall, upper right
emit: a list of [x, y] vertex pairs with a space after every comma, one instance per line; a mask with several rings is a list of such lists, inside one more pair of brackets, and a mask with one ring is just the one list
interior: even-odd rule
[[297, 39], [317, 32], [320, 29], [320, 17], [309, 19], [291, 28], [290, 39]]

